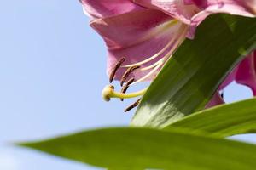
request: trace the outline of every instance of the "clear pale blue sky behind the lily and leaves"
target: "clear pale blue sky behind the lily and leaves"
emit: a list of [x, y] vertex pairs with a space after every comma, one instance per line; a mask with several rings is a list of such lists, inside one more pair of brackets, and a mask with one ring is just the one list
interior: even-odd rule
[[[3, 1], [0, 20], [0, 169], [96, 169], [10, 144], [127, 125], [132, 116], [122, 112], [132, 100], [102, 100], [106, 50], [79, 1]], [[224, 93], [228, 102], [251, 96], [235, 83]]]

